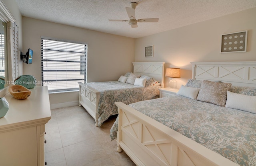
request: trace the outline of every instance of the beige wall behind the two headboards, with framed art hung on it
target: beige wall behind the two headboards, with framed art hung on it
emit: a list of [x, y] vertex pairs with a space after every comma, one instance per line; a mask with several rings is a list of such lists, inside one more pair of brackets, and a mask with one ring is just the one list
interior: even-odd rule
[[[138, 38], [135, 41], [136, 62], [166, 62], [166, 67], [181, 68], [178, 88], [192, 77], [196, 61], [256, 61], [256, 8], [215, 18], [170, 31]], [[220, 53], [221, 35], [248, 30], [246, 53]], [[144, 57], [144, 48], [154, 45], [154, 57]], [[165, 77], [165, 87], [168, 80]]]

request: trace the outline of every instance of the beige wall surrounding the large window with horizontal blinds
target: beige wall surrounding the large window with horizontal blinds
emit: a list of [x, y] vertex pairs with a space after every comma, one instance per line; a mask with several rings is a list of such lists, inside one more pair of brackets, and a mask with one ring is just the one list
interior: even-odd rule
[[[23, 51], [34, 51], [24, 74], [41, 81], [41, 36], [88, 43], [88, 82], [118, 80], [132, 71], [135, 39], [22, 17]], [[50, 104], [78, 101], [78, 92], [50, 94]]]

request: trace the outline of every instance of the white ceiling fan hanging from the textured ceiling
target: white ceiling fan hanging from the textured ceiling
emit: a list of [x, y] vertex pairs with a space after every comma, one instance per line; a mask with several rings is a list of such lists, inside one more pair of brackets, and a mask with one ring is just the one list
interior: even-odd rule
[[135, 8], [137, 5], [138, 5], [138, 3], [131, 2], [130, 3], [131, 8], [128, 8], [128, 7], [125, 8], [130, 20], [109, 20], [109, 21], [128, 22], [132, 26], [132, 28], [138, 27], [138, 25], [137, 25], [138, 22], [158, 22], [159, 18], [141, 18], [141, 19], [136, 20]]

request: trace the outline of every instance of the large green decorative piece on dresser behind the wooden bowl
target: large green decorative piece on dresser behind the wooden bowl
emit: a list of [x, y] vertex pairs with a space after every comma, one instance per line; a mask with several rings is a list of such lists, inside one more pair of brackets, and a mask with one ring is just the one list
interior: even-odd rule
[[14, 82], [15, 85], [21, 85], [28, 89], [34, 88], [36, 86], [36, 78], [32, 75], [18, 76]]

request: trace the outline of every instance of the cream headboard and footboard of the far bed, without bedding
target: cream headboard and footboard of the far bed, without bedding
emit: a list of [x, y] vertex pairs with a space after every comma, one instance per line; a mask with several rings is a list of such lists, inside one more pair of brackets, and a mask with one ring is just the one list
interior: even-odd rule
[[[132, 62], [133, 73], [152, 76], [155, 80], [161, 82], [164, 87], [164, 62]], [[100, 92], [79, 82], [79, 106], [83, 106], [88, 113], [94, 118], [95, 125], [98, 126], [98, 104], [100, 100]]]

